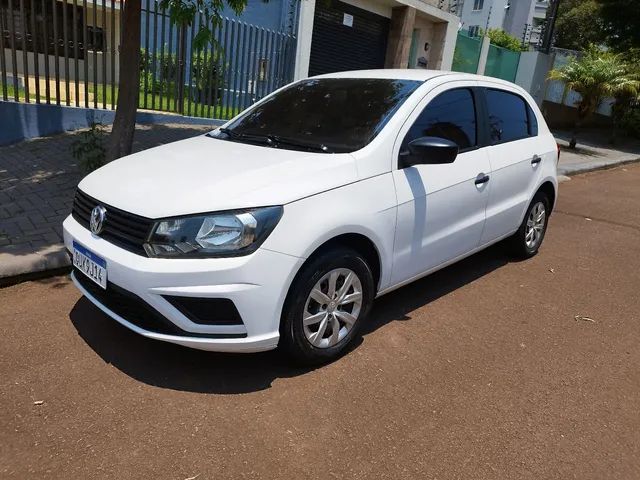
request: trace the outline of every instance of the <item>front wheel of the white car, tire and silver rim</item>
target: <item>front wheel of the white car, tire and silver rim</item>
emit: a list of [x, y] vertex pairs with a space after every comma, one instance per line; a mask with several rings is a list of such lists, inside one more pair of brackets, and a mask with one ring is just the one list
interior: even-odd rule
[[[343, 293], [343, 303], [340, 298], [329, 298], [332, 281], [336, 296]], [[349, 286], [343, 289], [347, 282]], [[280, 322], [280, 346], [304, 365], [339, 358], [358, 337], [374, 297], [371, 268], [355, 250], [336, 247], [311, 257], [289, 289]]]

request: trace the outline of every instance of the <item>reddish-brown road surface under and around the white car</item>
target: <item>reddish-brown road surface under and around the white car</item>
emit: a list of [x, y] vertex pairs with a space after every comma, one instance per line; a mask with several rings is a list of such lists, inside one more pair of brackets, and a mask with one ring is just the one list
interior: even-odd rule
[[2, 478], [640, 478], [640, 164], [376, 302], [315, 370], [144, 339], [63, 277], [0, 290]]

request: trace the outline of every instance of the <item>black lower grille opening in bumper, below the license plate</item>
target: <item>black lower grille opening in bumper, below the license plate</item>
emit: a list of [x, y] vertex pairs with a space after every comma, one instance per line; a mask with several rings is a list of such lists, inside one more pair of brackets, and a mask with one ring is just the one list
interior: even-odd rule
[[203, 338], [242, 338], [247, 336], [244, 333], [211, 334], [187, 332], [175, 325], [135, 293], [125, 290], [113, 282], [108, 282], [105, 290], [92, 282], [77, 268], [73, 269], [73, 275], [78, 283], [98, 302], [124, 318], [127, 322], [148, 332]]

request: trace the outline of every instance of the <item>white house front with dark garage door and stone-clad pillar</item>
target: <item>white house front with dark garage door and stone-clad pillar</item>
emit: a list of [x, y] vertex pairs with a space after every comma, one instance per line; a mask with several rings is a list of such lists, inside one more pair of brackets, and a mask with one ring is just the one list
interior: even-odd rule
[[371, 68], [449, 70], [458, 25], [444, 0], [305, 0], [295, 78]]

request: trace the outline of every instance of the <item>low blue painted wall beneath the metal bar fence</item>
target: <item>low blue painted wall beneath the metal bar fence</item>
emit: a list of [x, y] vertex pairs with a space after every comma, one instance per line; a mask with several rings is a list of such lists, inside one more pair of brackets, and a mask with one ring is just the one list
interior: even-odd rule
[[[113, 123], [114, 116], [115, 112], [112, 110], [0, 101], [0, 119], [2, 119], [0, 145], [10, 145], [28, 138], [45, 137], [69, 130], [87, 128], [92, 123], [108, 125]], [[209, 118], [151, 112], [138, 112], [136, 122], [211, 126], [223, 123], [220, 120]]]

